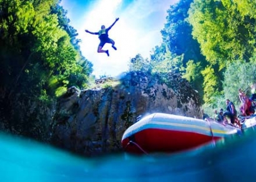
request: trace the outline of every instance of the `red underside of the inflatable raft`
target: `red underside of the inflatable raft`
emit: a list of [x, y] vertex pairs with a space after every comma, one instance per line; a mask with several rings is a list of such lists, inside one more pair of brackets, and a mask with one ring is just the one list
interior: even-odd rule
[[178, 152], [218, 139], [221, 137], [183, 131], [147, 129], [135, 134], [134, 141], [129, 138], [122, 140], [122, 147], [130, 153]]

